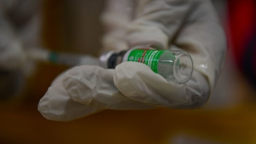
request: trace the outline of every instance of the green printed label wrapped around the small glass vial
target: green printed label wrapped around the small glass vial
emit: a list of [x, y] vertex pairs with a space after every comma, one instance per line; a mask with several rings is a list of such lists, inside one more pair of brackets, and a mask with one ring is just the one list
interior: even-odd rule
[[134, 49], [128, 55], [127, 61], [140, 62], [149, 66], [155, 73], [158, 73], [158, 61], [166, 50]]

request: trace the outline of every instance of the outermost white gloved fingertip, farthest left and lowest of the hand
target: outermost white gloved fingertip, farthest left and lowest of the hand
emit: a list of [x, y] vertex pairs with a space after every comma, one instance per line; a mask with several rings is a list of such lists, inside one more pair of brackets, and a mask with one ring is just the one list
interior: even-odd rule
[[48, 120], [71, 121], [103, 110], [73, 101], [62, 85], [62, 75], [58, 76], [53, 85], [38, 103], [38, 110]]

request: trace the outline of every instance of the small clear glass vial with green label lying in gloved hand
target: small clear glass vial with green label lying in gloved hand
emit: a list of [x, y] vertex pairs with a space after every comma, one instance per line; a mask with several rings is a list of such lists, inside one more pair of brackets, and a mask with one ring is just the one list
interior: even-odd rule
[[144, 63], [167, 81], [186, 83], [193, 73], [191, 56], [181, 50], [155, 50], [152, 48], [109, 51], [100, 56], [100, 66], [115, 69], [121, 62]]

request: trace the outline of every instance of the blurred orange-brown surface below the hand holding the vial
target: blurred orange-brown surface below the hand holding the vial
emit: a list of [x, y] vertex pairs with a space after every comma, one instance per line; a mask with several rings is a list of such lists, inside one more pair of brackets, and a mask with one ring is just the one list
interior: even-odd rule
[[54, 122], [37, 111], [40, 96], [31, 97], [0, 104], [0, 144], [175, 144], [172, 139], [179, 135], [218, 144], [256, 143], [255, 103], [226, 109], [106, 110]]

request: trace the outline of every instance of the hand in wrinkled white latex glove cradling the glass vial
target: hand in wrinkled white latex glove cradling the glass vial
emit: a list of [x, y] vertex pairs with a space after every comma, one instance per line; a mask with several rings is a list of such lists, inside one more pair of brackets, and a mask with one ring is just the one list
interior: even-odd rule
[[191, 80], [167, 82], [138, 62], [112, 70], [75, 67], [56, 78], [40, 100], [38, 110], [45, 118], [69, 121], [104, 109], [198, 108], [208, 101], [226, 53], [210, 0], [140, 0], [136, 12], [125, 28], [127, 46], [186, 50], [194, 61]]

